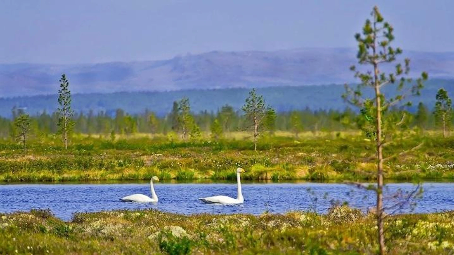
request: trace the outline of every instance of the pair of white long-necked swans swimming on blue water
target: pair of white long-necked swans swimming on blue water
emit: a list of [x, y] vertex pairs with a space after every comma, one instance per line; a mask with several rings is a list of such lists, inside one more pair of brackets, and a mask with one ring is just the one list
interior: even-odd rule
[[[207, 204], [225, 204], [225, 205], [237, 205], [244, 202], [243, 194], [241, 192], [241, 180], [240, 173], [245, 172], [241, 167], [237, 168], [237, 186], [238, 186], [238, 197], [232, 198], [230, 196], [208, 196], [204, 198], [199, 198], [200, 201]], [[154, 192], [153, 181], [159, 181], [159, 178], [156, 176], [151, 177], [150, 180], [150, 189], [151, 189], [151, 198], [142, 194], [133, 194], [130, 196], [125, 196], [121, 198], [121, 201], [125, 202], [143, 202], [143, 203], [156, 203], [158, 202], [158, 196]]]

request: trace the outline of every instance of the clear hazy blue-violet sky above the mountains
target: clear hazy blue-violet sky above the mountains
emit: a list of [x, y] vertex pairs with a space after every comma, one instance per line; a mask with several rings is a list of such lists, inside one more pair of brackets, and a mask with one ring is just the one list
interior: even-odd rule
[[356, 47], [374, 5], [404, 50], [454, 52], [450, 0], [1, 0], [0, 63]]

